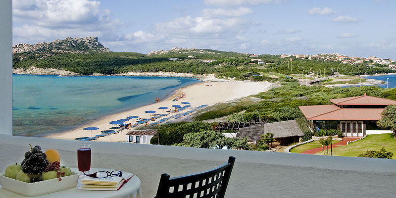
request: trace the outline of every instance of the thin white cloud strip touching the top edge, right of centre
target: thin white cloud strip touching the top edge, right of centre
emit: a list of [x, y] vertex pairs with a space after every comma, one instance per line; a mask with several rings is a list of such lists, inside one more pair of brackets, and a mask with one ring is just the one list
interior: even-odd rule
[[207, 5], [217, 5], [222, 7], [235, 6], [235, 5], [257, 5], [257, 4], [270, 4], [270, 3], [283, 3], [289, 0], [205, 0]]

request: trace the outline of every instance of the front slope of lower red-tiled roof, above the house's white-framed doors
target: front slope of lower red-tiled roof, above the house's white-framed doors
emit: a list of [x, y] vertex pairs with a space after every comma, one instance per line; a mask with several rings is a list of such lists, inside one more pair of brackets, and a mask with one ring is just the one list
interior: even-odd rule
[[341, 108], [308, 118], [309, 120], [380, 120], [384, 108]]

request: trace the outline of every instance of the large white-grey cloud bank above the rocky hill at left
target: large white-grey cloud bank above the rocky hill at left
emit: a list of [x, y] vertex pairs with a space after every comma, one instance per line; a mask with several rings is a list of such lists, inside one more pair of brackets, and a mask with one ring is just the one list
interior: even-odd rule
[[[116, 40], [123, 25], [95, 0], [13, 0], [13, 40], [35, 43], [66, 37]], [[17, 25], [15, 25], [17, 24]]]

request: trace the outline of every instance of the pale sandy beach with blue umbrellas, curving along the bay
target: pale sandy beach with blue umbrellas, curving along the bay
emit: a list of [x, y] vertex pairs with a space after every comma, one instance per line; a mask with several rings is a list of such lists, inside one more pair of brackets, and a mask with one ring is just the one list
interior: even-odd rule
[[[210, 85], [210, 86], [208, 86]], [[205, 81], [202, 83], [197, 83], [188, 87], [181, 88], [175, 92], [175, 94], [168, 99], [165, 99], [161, 102], [155, 103], [155, 99], [152, 104], [142, 106], [139, 108], [135, 108], [132, 110], [128, 110], [125, 112], [105, 116], [99, 118], [96, 121], [93, 121], [85, 126], [82, 126], [78, 129], [58, 133], [58, 134], [50, 134], [46, 136], [47, 138], [57, 138], [57, 139], [75, 139], [79, 137], [94, 137], [95, 135], [99, 135], [102, 130], [109, 130], [110, 127], [114, 127], [116, 125], [110, 125], [110, 121], [124, 119], [128, 116], [139, 116], [143, 118], [150, 118], [148, 113], [144, 111], [154, 110], [156, 113], [162, 114], [163, 110], [158, 109], [158, 107], [166, 106], [171, 107], [172, 105], [183, 105], [181, 102], [187, 101], [190, 102], [191, 107], [184, 110], [188, 111], [191, 108], [195, 108], [202, 104], [213, 105], [218, 102], [225, 102], [232, 99], [238, 99], [247, 97], [249, 95], [257, 94], [260, 92], [268, 91], [271, 88], [273, 83], [269, 82], [248, 82], [248, 81], [228, 81], [228, 82], [212, 82]], [[186, 94], [186, 98], [179, 99], [178, 101], [172, 101], [177, 96], [180, 96], [182, 93]], [[173, 108], [173, 107], [172, 107]], [[165, 109], [168, 110], [168, 109]], [[174, 115], [177, 113], [171, 113], [170, 115]], [[134, 120], [136, 122], [136, 119]], [[153, 122], [153, 121], [151, 121]], [[149, 122], [149, 123], [151, 123]], [[132, 123], [132, 119], [130, 121], [126, 121], [125, 123]], [[142, 126], [142, 125], [140, 125]], [[85, 131], [83, 128], [85, 127], [98, 127], [99, 130]], [[96, 141], [105, 141], [105, 142], [125, 142], [126, 133], [129, 130], [123, 130], [117, 134], [108, 135], [105, 137], [101, 137]]]

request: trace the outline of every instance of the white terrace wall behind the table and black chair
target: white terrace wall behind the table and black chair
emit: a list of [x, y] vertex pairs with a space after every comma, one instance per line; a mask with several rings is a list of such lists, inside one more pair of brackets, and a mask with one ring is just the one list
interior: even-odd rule
[[[55, 148], [61, 164], [77, 167], [78, 141], [0, 135], [0, 172], [20, 163], [28, 143]], [[396, 160], [308, 154], [92, 142], [92, 167], [135, 173], [145, 198], [161, 173], [198, 173], [236, 157], [226, 198], [394, 197]]]

